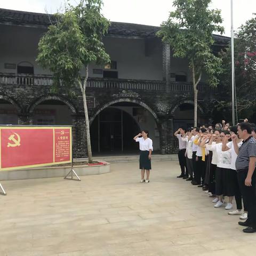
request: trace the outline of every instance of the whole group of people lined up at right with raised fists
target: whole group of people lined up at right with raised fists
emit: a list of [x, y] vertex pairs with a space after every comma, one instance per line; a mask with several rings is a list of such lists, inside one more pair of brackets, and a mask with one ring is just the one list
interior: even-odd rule
[[[214, 197], [215, 208], [224, 206], [229, 215], [240, 215], [238, 225], [245, 233], [256, 232], [256, 125], [247, 119], [236, 126], [222, 121], [213, 126], [180, 127], [174, 135], [179, 140], [181, 174]], [[233, 209], [233, 198], [237, 209]], [[242, 205], [243, 201], [243, 205]], [[244, 207], [244, 209], [243, 209]], [[231, 211], [231, 209], [233, 209]]]

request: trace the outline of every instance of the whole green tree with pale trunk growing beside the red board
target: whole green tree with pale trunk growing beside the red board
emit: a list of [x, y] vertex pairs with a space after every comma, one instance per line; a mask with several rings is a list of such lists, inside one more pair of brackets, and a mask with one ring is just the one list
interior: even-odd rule
[[76, 86], [81, 89], [89, 163], [92, 150], [85, 93], [88, 67], [90, 63], [110, 62], [102, 43], [110, 22], [101, 14], [102, 4], [101, 0], [81, 0], [77, 6], [68, 4], [63, 14], [55, 14], [52, 25], [38, 44], [37, 61], [52, 72], [55, 89], [70, 91]]

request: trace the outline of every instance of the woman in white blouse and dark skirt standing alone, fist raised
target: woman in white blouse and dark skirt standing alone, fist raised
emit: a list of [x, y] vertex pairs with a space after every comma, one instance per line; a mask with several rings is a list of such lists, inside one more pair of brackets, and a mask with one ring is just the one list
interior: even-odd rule
[[[141, 138], [139, 138], [142, 136]], [[141, 183], [149, 182], [149, 172], [151, 170], [151, 154], [153, 151], [153, 141], [148, 138], [148, 131], [142, 130], [141, 133], [133, 138], [136, 142], [140, 143], [140, 170], [141, 170]], [[147, 179], [144, 179], [145, 170]]]

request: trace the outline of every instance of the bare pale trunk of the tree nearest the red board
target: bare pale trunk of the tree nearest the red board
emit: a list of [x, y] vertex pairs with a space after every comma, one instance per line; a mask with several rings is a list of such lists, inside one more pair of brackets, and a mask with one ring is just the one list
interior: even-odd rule
[[88, 109], [87, 109], [87, 102], [86, 102], [86, 84], [88, 79], [88, 65], [86, 66], [86, 74], [84, 78], [84, 83], [79, 81], [79, 86], [82, 91], [83, 95], [83, 103], [84, 103], [84, 116], [85, 116], [85, 133], [86, 133], [86, 140], [87, 140], [87, 151], [88, 151], [88, 162], [92, 163], [92, 147], [91, 147], [91, 135], [90, 135], [90, 123], [89, 123], [89, 116], [88, 116]]

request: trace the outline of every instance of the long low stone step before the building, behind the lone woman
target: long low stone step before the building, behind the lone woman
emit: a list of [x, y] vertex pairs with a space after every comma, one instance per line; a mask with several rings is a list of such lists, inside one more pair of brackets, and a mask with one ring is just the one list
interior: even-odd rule
[[[87, 161], [88, 158], [77, 158], [74, 162]], [[127, 163], [127, 162], [138, 162], [139, 155], [124, 155], [124, 156], [96, 156], [93, 158], [94, 161], [106, 161], [108, 163]], [[152, 162], [157, 161], [178, 161], [178, 155], [153, 155]]]

